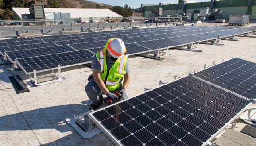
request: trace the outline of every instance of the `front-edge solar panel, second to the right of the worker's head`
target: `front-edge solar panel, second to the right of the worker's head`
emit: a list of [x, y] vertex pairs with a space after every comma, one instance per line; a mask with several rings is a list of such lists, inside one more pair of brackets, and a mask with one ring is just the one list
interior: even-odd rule
[[153, 41], [147, 41], [147, 42], [138, 42], [136, 44], [139, 44], [140, 46], [145, 46], [149, 49], [155, 50], [158, 48], [167, 48], [173, 47], [173, 46], [179, 46], [182, 45], [181, 42], [176, 42], [170, 39], [159, 39], [159, 40], [153, 40]]

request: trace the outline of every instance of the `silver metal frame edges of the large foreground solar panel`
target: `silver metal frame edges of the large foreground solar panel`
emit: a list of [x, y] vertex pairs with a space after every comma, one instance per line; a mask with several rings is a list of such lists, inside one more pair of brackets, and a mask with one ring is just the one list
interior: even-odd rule
[[[189, 77], [189, 76], [186, 76], [186, 77]], [[184, 79], [184, 78], [185, 78], [185, 77], [182, 77], [182, 78], [177, 79], [177, 80], [175, 80], [175, 81], [179, 81], [179, 80]], [[171, 83], [173, 83], [173, 82], [175, 82], [175, 81], [172, 81]], [[161, 85], [161, 86], [159, 86], [158, 88], [161, 88], [161, 87], [163, 87], [163, 86], [165, 86], [165, 85], [168, 85], [168, 84], [171, 84], [171, 83], [167, 83], [167, 84]], [[151, 90], [149, 90], [149, 91], [153, 91], [153, 90], [155, 90], [155, 89], [157, 89], [157, 88], [153, 88], [153, 89], [151, 89]], [[149, 91], [147, 91], [147, 92], [149, 92]], [[144, 93], [147, 93], [147, 92], [144, 92]], [[144, 94], [144, 93], [143, 93], [143, 94]], [[142, 94], [140, 94], [140, 95], [142, 95]], [[132, 98], [128, 98], [128, 99], [119, 101], [119, 102], [117, 102], [117, 103], [115, 103], [115, 104], [112, 104], [112, 105], [110, 105], [110, 106], [115, 106], [115, 105], [120, 104], [120, 103], [122, 103], [122, 102], [124, 102], [124, 101], [130, 100], [130, 99], [134, 99], [134, 98], [136, 98], [136, 97], [132, 97]], [[232, 122], [233, 120], [235, 120], [235, 119], [237, 118], [237, 116], [240, 115], [240, 114], [241, 114], [246, 108], [248, 108], [251, 104], [252, 104], [252, 102], [249, 103], [249, 104], [247, 104], [244, 108], [242, 108], [235, 116], [233, 116], [233, 118], [231, 118], [228, 122], [226, 122], [225, 125], [223, 125], [223, 126], [222, 126], [220, 129], [218, 129], [214, 134], [212, 134], [209, 138], [207, 138], [207, 140], [202, 143], [202, 146], [206, 145], [208, 142], [210, 142], [210, 140], [212, 140], [214, 137], [216, 137], [217, 134], [219, 134], [222, 130], [224, 130], [225, 127], [228, 126], [228, 124], [229, 124], [230, 122]], [[93, 123], [95, 123], [95, 124], [112, 140], [112, 142], [114, 142], [116, 145], [120, 145], [120, 146], [121, 146], [121, 145], [122, 145], [121, 141], [120, 141], [120, 140], [117, 140], [117, 139], [111, 134], [111, 132], [110, 132], [108, 129], [106, 129], [104, 126], [101, 126], [101, 123], [96, 119], [95, 116], [93, 116], [94, 113], [96, 113], [96, 112], [98, 112], [98, 111], [101, 111], [101, 110], [105, 110], [106, 108], [109, 108], [110, 106], [105, 107], [105, 108], [101, 108], [101, 109], [98, 109], [98, 110], [96, 110], [96, 111], [93, 111], [93, 112], [89, 113], [89, 118], [93, 120]], [[121, 112], [121, 113], [123, 113], [123, 112]], [[124, 112], [124, 113], [125, 113], [125, 112]], [[164, 118], [165, 118], [165, 117], [164, 117]], [[163, 118], [162, 118], [162, 119], [163, 119]], [[181, 120], [182, 120], [182, 118], [181, 118]], [[134, 120], [132, 120], [132, 121], [134, 121]], [[209, 127], [207, 127], [207, 128], [209, 128]], [[197, 128], [195, 128], [195, 129], [197, 129]], [[199, 129], [199, 128], [198, 128], [198, 129]], [[190, 134], [187, 134], [187, 135], [190, 135]], [[157, 137], [157, 138], [158, 138], [158, 137]], [[183, 142], [182, 142], [182, 143], [183, 143]]]

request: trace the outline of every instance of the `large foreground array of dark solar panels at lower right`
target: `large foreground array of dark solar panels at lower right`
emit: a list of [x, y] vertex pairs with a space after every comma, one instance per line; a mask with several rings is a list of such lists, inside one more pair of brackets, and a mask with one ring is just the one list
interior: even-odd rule
[[[227, 73], [230, 68], [237, 68], [234, 72], [240, 75], [252, 75], [248, 69], [255, 69], [255, 65], [234, 58], [195, 76], [214, 73], [216, 69]], [[254, 70], [251, 77], [255, 77], [255, 73]], [[231, 79], [237, 76], [233, 72], [228, 75]], [[251, 79], [241, 76], [244, 81]], [[253, 81], [254, 86], [247, 86], [248, 89], [255, 87], [255, 78]], [[253, 91], [256, 98], [256, 89]], [[232, 90], [224, 90], [190, 75], [89, 113], [89, 117], [117, 145], [201, 146], [250, 104], [252, 102], [248, 98], [237, 96]]]

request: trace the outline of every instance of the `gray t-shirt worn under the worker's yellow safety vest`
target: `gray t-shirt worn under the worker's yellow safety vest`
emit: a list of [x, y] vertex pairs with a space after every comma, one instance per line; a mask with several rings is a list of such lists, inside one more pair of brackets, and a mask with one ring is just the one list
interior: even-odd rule
[[[107, 63], [108, 69], [109, 69], [115, 63], [115, 61], [113, 61], [109, 56], [106, 56], [106, 63]], [[93, 56], [92, 69], [101, 70], [101, 65], [100, 65], [96, 55]], [[130, 72], [130, 68], [129, 68], [128, 61], [127, 61], [126, 73], [129, 73], [129, 72]]]

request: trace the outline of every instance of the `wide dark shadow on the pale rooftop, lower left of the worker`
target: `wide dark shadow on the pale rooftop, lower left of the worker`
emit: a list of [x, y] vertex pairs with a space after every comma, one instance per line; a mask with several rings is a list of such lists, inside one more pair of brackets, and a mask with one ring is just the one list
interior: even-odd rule
[[75, 109], [82, 113], [88, 111], [89, 106], [68, 104], [5, 115], [0, 117], [0, 131], [31, 129], [56, 129], [60, 132], [70, 131], [70, 125], [66, 123], [65, 118], [72, 117], [71, 111]]

